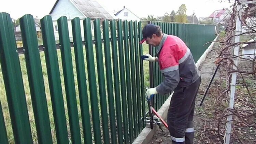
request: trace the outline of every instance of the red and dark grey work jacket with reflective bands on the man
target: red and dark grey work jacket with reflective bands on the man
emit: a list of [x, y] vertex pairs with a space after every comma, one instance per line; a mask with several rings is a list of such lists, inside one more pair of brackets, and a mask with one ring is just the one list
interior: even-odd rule
[[200, 73], [186, 44], [174, 35], [163, 34], [156, 53], [163, 82], [156, 87], [162, 95], [170, 93], [176, 87], [185, 87], [194, 83]]

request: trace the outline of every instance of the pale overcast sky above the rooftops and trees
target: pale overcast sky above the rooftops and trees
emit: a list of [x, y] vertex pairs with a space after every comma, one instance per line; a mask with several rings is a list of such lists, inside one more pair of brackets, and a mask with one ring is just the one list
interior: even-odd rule
[[[187, 15], [193, 11], [197, 17], [208, 17], [214, 10], [229, 8], [231, 3], [219, 0], [97, 0], [107, 11], [119, 11], [125, 5], [138, 17], [147, 15], [163, 16], [179, 9], [181, 4], [187, 7]], [[223, 0], [224, 1], [224, 0]], [[0, 0], [0, 12], [7, 12], [12, 18], [17, 19], [25, 14], [34, 17], [49, 14], [56, 0]], [[115, 5], [115, 6], [114, 6]]]

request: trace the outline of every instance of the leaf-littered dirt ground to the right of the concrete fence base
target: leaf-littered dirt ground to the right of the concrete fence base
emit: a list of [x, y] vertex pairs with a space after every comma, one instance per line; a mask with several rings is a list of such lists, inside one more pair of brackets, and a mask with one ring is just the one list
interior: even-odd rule
[[[213, 50], [218, 49], [217, 45], [215, 44], [213, 47]], [[216, 53], [214, 53], [213, 51], [211, 51], [204, 62], [202, 62], [201, 66], [199, 67], [199, 71], [201, 73], [201, 85], [200, 85], [200, 89], [198, 92], [198, 96], [196, 98], [196, 107], [195, 107], [195, 112], [194, 112], [194, 126], [195, 126], [195, 139], [194, 139], [194, 143], [195, 144], [203, 144], [203, 143], [207, 143], [207, 144], [212, 144], [212, 143], [216, 143], [216, 144], [221, 144], [224, 142], [223, 138], [224, 138], [224, 134], [225, 134], [225, 124], [223, 123], [222, 125], [220, 125], [219, 127], [219, 135], [218, 135], [218, 123], [219, 123], [219, 118], [221, 117], [224, 108], [221, 107], [219, 104], [217, 104], [216, 99], [221, 100], [220, 98], [218, 98], [218, 95], [216, 96], [216, 94], [214, 93], [214, 90], [220, 88], [220, 87], [224, 87], [225, 86], [225, 78], [223, 78], [223, 74], [221, 73], [222, 69], [219, 69], [214, 81], [212, 83], [211, 89], [209, 90], [204, 102], [202, 106], [199, 106], [201, 99], [204, 95], [205, 90], [207, 89], [207, 85], [210, 83], [212, 75], [215, 71], [216, 65], [214, 64], [214, 61], [216, 60], [214, 57], [216, 57]], [[240, 66], [242, 67], [248, 67], [246, 64], [246, 62], [241, 62], [240, 61]], [[253, 79], [252, 77], [249, 77], [248, 79]], [[238, 76], [238, 80], [237, 82], [239, 83], [239, 76]], [[255, 82], [255, 79], [254, 79]], [[255, 89], [252, 88], [252, 94], [256, 94]], [[239, 98], [236, 98], [235, 101], [245, 101], [246, 104], [247, 102], [249, 103], [247, 108], [252, 108], [252, 102], [250, 103], [250, 100], [247, 100], [247, 95], [243, 95], [242, 90], [237, 90], [237, 95]], [[239, 93], [241, 95], [239, 95]], [[239, 102], [238, 102], [239, 103]], [[242, 107], [242, 104], [235, 104], [235, 107], [240, 108]], [[253, 110], [253, 109], [252, 109]], [[235, 118], [236, 119], [236, 118]], [[222, 118], [222, 121], [225, 121], [225, 118]], [[253, 123], [255, 124], [255, 118], [254, 120], [252, 120]], [[252, 144], [252, 143], [256, 143], [256, 133], [255, 133], [255, 129], [252, 129], [252, 127], [246, 127], [246, 126], [241, 126], [241, 127], [237, 127], [240, 126], [241, 124], [238, 123], [237, 125], [235, 125], [235, 129], [238, 130], [237, 132], [247, 132], [249, 134], [236, 134], [236, 136], [234, 136], [233, 134], [231, 134], [231, 139], [230, 139], [230, 143], [248, 143], [248, 144]], [[170, 138], [170, 133], [166, 128], [163, 128], [164, 132], [162, 132], [160, 129], [158, 129], [155, 133], [155, 135], [153, 136], [152, 140], [150, 141], [150, 144], [170, 144], [171, 143], [171, 138]], [[250, 134], [251, 133], [251, 134]], [[237, 136], [239, 137], [240, 140], [239, 141]]]

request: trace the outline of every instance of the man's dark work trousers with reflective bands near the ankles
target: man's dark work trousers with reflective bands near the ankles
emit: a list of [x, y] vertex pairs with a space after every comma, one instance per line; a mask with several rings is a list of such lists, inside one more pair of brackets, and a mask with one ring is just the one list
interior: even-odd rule
[[167, 115], [172, 144], [192, 144], [194, 141], [193, 117], [200, 83], [201, 77], [187, 87], [174, 90]]

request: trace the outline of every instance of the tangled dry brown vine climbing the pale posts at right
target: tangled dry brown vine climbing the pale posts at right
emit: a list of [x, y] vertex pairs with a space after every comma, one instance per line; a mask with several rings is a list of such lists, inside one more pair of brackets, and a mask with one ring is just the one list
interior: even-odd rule
[[[226, 120], [227, 116], [232, 115], [233, 120], [232, 120], [232, 133], [233, 137], [236, 137], [236, 139], [242, 143], [243, 140], [239, 133], [242, 133], [239, 130], [239, 127], [247, 127], [247, 128], [253, 128], [256, 130], [256, 123], [253, 121], [253, 119], [256, 116], [256, 104], [255, 104], [255, 99], [253, 98], [252, 95], [252, 90], [248, 88], [248, 84], [246, 82], [246, 79], [244, 75], [253, 75], [254, 78], [256, 78], [256, 56], [250, 54], [246, 55], [233, 55], [233, 49], [235, 46], [242, 46], [242, 44], [250, 44], [254, 45], [256, 47], [256, 3], [254, 4], [245, 4], [242, 6], [242, 9], [237, 11], [237, 5], [238, 5], [238, 0], [235, 0], [234, 3], [232, 4], [232, 9], [230, 12], [230, 17], [226, 18], [225, 23], [218, 24], [215, 28], [217, 35], [218, 35], [218, 41], [215, 41], [219, 43], [220, 49], [218, 51], [215, 51], [218, 56], [217, 60], [215, 61], [216, 64], [220, 64], [222, 67], [222, 74], [226, 79], [226, 88], [222, 89], [216, 93], [218, 96], [215, 98], [215, 102], [221, 106], [224, 107], [224, 111], [222, 115], [219, 117], [218, 120], [218, 136], [220, 138], [223, 138], [225, 131], [220, 131], [221, 126], [225, 126], [228, 121]], [[240, 34], [235, 34], [236, 30], [236, 19], [238, 13], [241, 12], [241, 17], [239, 17], [241, 21], [241, 28], [243, 32]], [[218, 32], [218, 29], [220, 26], [225, 26], [225, 30]], [[254, 39], [254, 41], [241, 41], [240, 42], [234, 42], [234, 38], [236, 36], [243, 36], [246, 35], [246, 37], [250, 39]], [[247, 56], [247, 57], [244, 57]], [[235, 66], [237, 69], [233, 69], [233, 64], [234, 64], [234, 59], [238, 59], [238, 61], [246, 61], [248, 63], [251, 63], [252, 69], [247, 69], [247, 68], [240, 68], [238, 66]], [[243, 85], [246, 90], [246, 95], [250, 96], [250, 103], [248, 103], [248, 107], [251, 107], [251, 109], [243, 110], [243, 109], [236, 109], [236, 106], [234, 106], [234, 109], [230, 109], [227, 104], [229, 103], [229, 92], [230, 92], [230, 83], [231, 83], [231, 73], [237, 72], [240, 74], [240, 85]], [[237, 90], [238, 91], [238, 90]], [[235, 97], [236, 99], [239, 96], [238, 93], [236, 93]], [[214, 102], [214, 103], [215, 103]], [[228, 104], [229, 105], [229, 104]], [[222, 134], [221, 134], [222, 133]], [[246, 133], [243, 133], [246, 134]]]

